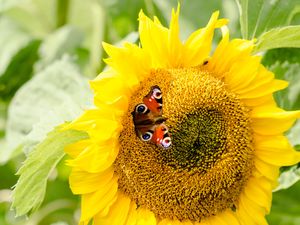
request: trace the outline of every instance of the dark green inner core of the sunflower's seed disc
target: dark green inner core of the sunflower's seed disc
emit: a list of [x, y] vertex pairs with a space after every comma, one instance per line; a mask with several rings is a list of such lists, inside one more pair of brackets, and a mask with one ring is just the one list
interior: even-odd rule
[[203, 108], [187, 114], [173, 130], [176, 148], [162, 149], [167, 165], [176, 169], [195, 169], [204, 172], [221, 156], [226, 144], [226, 126], [222, 113]]

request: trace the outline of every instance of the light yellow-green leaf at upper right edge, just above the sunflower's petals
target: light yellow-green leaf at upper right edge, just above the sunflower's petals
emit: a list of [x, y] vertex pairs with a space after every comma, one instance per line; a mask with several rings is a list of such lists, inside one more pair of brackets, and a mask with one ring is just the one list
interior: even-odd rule
[[300, 48], [300, 26], [274, 28], [263, 33], [256, 44], [255, 52], [272, 48]]

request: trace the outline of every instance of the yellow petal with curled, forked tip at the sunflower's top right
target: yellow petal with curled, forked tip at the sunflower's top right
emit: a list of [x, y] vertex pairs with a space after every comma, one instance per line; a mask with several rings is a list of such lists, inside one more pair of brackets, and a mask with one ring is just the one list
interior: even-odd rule
[[211, 51], [214, 30], [227, 24], [227, 20], [218, 19], [219, 12], [214, 12], [205, 28], [193, 32], [184, 43], [184, 67], [202, 64]]

